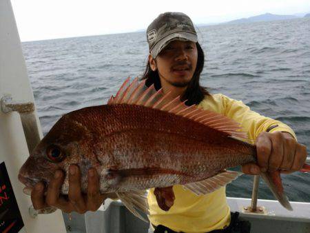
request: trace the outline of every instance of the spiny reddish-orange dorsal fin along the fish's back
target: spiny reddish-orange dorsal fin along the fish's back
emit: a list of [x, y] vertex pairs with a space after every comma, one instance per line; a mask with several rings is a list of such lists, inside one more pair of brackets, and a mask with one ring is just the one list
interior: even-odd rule
[[121, 88], [118, 90], [115, 97], [110, 97], [107, 104], [134, 104], [143, 105], [149, 108], [171, 112], [173, 114], [192, 119], [193, 121], [207, 125], [210, 128], [225, 132], [229, 136], [234, 136], [238, 139], [247, 139], [247, 134], [241, 131], [240, 124], [236, 121], [225, 117], [222, 114], [203, 110], [197, 105], [187, 106], [185, 101], [180, 101], [180, 97], [171, 98], [171, 92], [163, 93], [163, 90], [156, 91], [154, 85], [145, 85], [145, 80], [138, 82], [138, 77], [130, 83], [128, 77]]

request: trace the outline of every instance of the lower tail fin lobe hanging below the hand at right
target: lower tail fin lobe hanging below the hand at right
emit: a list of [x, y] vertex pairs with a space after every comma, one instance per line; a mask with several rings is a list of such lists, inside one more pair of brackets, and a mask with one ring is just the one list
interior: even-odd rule
[[262, 176], [262, 179], [265, 180], [271, 192], [273, 192], [273, 195], [276, 197], [276, 199], [278, 199], [280, 204], [287, 210], [293, 210], [293, 208], [291, 207], [291, 203], [289, 203], [289, 199], [285, 195], [282, 186], [280, 171], [264, 172], [261, 173], [260, 175]]

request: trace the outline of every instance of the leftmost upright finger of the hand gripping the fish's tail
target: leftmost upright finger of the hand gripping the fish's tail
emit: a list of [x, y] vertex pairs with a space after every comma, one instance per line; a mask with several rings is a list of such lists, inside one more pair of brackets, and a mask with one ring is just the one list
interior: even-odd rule
[[256, 140], [257, 160], [262, 172], [266, 172], [268, 170], [269, 156], [271, 155], [272, 146], [271, 140], [268, 136], [264, 136], [264, 134], [268, 133], [262, 132]]

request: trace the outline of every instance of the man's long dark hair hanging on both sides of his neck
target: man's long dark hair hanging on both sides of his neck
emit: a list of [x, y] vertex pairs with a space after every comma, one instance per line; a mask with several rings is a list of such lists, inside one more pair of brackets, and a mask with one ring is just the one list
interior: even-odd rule
[[[199, 83], [200, 73], [203, 71], [203, 65], [205, 64], [205, 54], [203, 53], [203, 49], [198, 42], [196, 43], [196, 47], [198, 51], [196, 70], [193, 74], [191, 81], [189, 81], [189, 84], [187, 85], [183, 96], [181, 97], [181, 100], [183, 101], [187, 99], [187, 101], [185, 102], [186, 105], [198, 104], [205, 98], [206, 95], [209, 95], [207, 88], [201, 86]], [[157, 70], [153, 71], [151, 69], [148, 60], [145, 72], [141, 79], [147, 79], [145, 81], [145, 84], [147, 86], [150, 86], [154, 83], [156, 90], [161, 89], [161, 80], [159, 79], [158, 72]]]

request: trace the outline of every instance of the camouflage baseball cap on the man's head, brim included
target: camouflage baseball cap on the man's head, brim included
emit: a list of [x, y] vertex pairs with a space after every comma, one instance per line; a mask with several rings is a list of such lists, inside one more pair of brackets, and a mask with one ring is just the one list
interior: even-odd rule
[[174, 40], [197, 42], [194, 24], [186, 14], [180, 12], [165, 12], [160, 14], [147, 27], [147, 42], [153, 58]]

